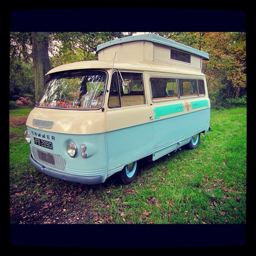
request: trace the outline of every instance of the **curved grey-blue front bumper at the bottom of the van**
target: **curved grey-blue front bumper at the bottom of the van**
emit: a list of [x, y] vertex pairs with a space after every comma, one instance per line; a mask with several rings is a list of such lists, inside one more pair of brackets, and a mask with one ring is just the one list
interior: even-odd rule
[[39, 172], [60, 180], [67, 180], [67, 181], [77, 182], [81, 184], [98, 184], [102, 182], [101, 176], [83, 176], [83, 175], [68, 174], [68, 173], [63, 173], [58, 170], [54, 170], [54, 169], [50, 169], [45, 166], [42, 166], [32, 157], [32, 154], [29, 155], [29, 160], [31, 164], [37, 170], [39, 170]]

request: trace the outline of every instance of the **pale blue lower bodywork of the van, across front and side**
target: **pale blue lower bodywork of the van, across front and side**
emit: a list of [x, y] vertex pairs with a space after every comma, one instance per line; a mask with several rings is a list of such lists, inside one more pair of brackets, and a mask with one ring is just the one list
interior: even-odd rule
[[[178, 104], [175, 104], [178, 106]], [[177, 110], [179, 111], [179, 110]], [[157, 112], [155, 112], [157, 113]], [[160, 116], [169, 112], [162, 109]], [[191, 136], [207, 131], [209, 127], [210, 108], [172, 116], [158, 118], [152, 122], [135, 125], [107, 133], [74, 135], [42, 131], [28, 127], [31, 134], [31, 152], [41, 166], [53, 169], [60, 174], [84, 177], [101, 177], [101, 182], [112, 174], [119, 172], [127, 164], [152, 155], [156, 160], [186, 144]], [[34, 138], [51, 141], [53, 150], [34, 143]], [[78, 155], [68, 155], [67, 142], [73, 141], [78, 147]], [[80, 156], [81, 144], [87, 145], [87, 158]], [[35, 150], [36, 149], [36, 150]], [[60, 156], [62, 169], [40, 161], [35, 152], [41, 151]]]

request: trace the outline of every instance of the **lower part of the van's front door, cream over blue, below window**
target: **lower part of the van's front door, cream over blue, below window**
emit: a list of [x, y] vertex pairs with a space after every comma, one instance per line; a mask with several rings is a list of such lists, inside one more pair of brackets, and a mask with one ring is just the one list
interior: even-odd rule
[[152, 154], [152, 109], [138, 105], [106, 112], [108, 176]]

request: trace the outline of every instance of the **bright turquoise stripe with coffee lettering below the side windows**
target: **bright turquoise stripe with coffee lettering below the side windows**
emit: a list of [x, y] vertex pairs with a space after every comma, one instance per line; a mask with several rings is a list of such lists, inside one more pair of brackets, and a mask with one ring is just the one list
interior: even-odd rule
[[196, 101], [185, 101], [183, 103], [177, 103], [167, 106], [156, 106], [154, 109], [155, 119], [159, 119], [162, 116], [177, 114], [180, 112], [189, 112], [189, 110], [199, 109], [208, 107], [208, 100], [196, 100]]

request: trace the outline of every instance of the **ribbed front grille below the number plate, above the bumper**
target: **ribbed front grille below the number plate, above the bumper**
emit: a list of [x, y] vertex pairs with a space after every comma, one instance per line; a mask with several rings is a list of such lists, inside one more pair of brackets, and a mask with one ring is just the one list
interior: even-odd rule
[[32, 154], [34, 159], [38, 160], [41, 163], [45, 163], [56, 169], [60, 169], [60, 170], [65, 169], [66, 160], [60, 155], [39, 150], [34, 146], [32, 146]]

